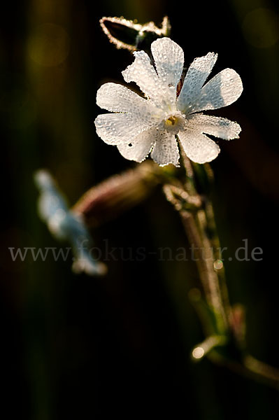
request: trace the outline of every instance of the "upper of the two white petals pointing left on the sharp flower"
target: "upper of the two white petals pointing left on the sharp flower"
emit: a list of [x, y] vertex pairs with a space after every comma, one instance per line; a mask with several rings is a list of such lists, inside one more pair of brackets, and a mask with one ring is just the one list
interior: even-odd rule
[[128, 87], [117, 83], [105, 83], [97, 92], [96, 104], [100, 108], [114, 112], [133, 113], [147, 109], [147, 112], [155, 112], [155, 107], [146, 99], [140, 97]]

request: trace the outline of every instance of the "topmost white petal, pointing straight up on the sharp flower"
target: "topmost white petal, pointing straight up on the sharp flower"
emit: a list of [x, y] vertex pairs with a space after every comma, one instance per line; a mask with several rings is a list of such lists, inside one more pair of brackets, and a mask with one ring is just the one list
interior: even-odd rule
[[183, 71], [183, 49], [170, 38], [159, 38], [152, 42], [151, 52], [159, 78], [176, 87]]

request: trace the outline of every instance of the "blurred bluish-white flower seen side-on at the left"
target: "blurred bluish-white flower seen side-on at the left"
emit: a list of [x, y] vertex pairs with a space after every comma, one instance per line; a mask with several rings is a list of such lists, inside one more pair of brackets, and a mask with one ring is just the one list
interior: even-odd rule
[[94, 260], [90, 253], [93, 241], [83, 218], [69, 210], [52, 176], [47, 171], [40, 170], [34, 174], [34, 181], [40, 191], [39, 216], [56, 239], [71, 243], [74, 256], [73, 272], [85, 272], [90, 276], [106, 274], [106, 265]]

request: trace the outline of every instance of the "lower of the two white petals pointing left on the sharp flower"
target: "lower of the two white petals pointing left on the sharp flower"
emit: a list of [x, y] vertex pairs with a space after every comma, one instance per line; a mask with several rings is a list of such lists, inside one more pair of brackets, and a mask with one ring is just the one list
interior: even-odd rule
[[146, 114], [145, 118], [136, 114], [100, 114], [95, 120], [96, 133], [107, 144], [119, 145], [134, 139], [148, 130], [155, 122]]

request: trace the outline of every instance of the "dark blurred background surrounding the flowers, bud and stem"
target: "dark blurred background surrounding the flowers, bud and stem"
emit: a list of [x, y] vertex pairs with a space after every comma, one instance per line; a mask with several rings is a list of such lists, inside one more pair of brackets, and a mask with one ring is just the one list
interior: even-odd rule
[[[275, 419], [278, 391], [208, 360], [192, 365], [201, 342], [187, 297], [193, 262], [110, 261], [100, 279], [71, 273], [71, 260], [13, 262], [9, 246], [60, 246], [36, 214], [32, 174], [52, 172], [69, 202], [132, 163], [94, 130], [98, 87], [122, 82], [131, 55], [108, 43], [103, 15], [154, 20], [169, 15], [185, 64], [218, 52], [213, 74], [231, 67], [240, 99], [215, 115], [240, 123], [241, 138], [220, 141], [215, 211], [231, 255], [248, 239], [260, 262], [227, 262], [231, 302], [247, 310], [253, 356], [278, 361], [278, 10], [269, 1], [10, 1], [1, 11], [1, 381], [0, 412], [13, 419]], [[38, 27], [59, 25], [51, 66]], [[64, 29], [63, 29], [64, 28]], [[66, 31], [66, 35], [65, 32]], [[61, 39], [60, 39], [61, 38]], [[34, 60], [34, 50], [39, 59]], [[33, 55], [32, 55], [33, 54]], [[53, 61], [52, 52], [49, 52]], [[47, 56], [48, 57], [48, 56]], [[48, 63], [49, 64], [49, 63]], [[154, 251], [186, 246], [179, 218], [157, 191], [94, 231], [96, 244]], [[66, 246], [66, 245], [65, 245]], [[229, 254], [228, 254], [229, 255]], [[1, 413], [2, 414], [2, 413]]]

